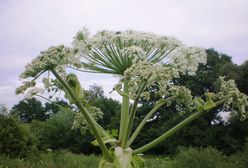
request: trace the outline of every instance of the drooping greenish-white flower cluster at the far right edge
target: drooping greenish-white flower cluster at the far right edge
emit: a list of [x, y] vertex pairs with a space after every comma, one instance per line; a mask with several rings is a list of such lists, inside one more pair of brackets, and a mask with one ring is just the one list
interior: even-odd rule
[[237, 113], [241, 120], [248, 118], [248, 96], [238, 90], [234, 80], [224, 81], [221, 77], [220, 81], [221, 87], [216, 97], [220, 100], [228, 98], [224, 104], [225, 110]]

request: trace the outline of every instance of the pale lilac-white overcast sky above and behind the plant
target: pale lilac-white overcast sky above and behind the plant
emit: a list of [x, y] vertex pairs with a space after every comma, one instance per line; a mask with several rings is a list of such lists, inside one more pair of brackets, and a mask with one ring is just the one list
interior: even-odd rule
[[[52, 45], [71, 46], [76, 32], [148, 31], [174, 36], [188, 46], [214, 48], [236, 64], [248, 60], [247, 0], [0, 0], [0, 104], [16, 96], [25, 65]], [[96, 83], [108, 94], [118, 79], [80, 74], [87, 89]]]

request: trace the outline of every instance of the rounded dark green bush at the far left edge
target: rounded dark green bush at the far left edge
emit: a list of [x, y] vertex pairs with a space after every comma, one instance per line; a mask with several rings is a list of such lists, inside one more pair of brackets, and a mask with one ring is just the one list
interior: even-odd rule
[[36, 150], [36, 141], [29, 127], [13, 117], [0, 115], [0, 137], [0, 154], [25, 157]]

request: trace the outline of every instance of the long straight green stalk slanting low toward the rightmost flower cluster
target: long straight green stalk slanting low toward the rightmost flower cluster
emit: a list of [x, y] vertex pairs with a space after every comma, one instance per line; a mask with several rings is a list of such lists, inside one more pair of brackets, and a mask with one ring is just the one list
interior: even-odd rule
[[156, 146], [157, 144], [161, 143], [162, 141], [164, 141], [165, 139], [169, 138], [170, 136], [174, 135], [176, 132], [180, 131], [182, 128], [184, 128], [186, 125], [188, 125], [189, 123], [191, 123], [192, 121], [194, 121], [195, 119], [199, 118], [200, 116], [202, 116], [203, 114], [207, 113], [209, 110], [215, 108], [216, 106], [223, 104], [227, 99], [222, 99], [218, 102], [215, 103], [215, 106], [213, 106], [212, 108], [209, 108], [206, 110], [202, 109], [194, 114], [192, 114], [191, 116], [189, 116], [188, 118], [184, 119], [182, 122], [180, 122], [179, 124], [177, 124], [176, 126], [174, 126], [173, 128], [171, 128], [170, 130], [168, 130], [167, 132], [165, 132], [163, 135], [161, 135], [160, 137], [158, 137], [157, 139], [153, 140], [152, 142], [138, 148], [135, 149], [133, 151], [133, 154], [139, 154], [139, 153], [143, 153], [147, 150], [149, 150], [150, 148]]

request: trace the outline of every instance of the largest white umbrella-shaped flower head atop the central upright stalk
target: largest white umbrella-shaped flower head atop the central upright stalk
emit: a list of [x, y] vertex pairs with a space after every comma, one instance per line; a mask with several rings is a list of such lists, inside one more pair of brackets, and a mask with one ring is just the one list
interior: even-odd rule
[[[182, 43], [175, 38], [131, 30], [101, 31], [89, 36], [88, 30], [82, 29], [74, 37], [73, 46], [80, 51], [88, 65], [104, 67], [119, 64], [117, 67], [122, 68], [123, 75], [131, 63], [139, 59], [159, 62], [175, 48], [182, 46]], [[100, 57], [95, 57], [94, 54]]]

